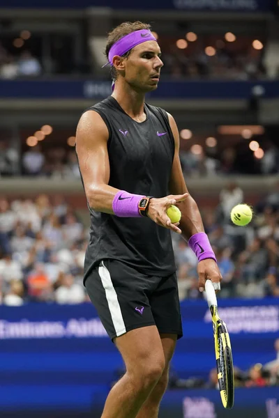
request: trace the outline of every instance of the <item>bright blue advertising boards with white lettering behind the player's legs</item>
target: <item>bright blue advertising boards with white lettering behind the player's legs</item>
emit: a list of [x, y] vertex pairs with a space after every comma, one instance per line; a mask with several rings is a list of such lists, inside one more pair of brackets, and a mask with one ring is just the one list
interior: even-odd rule
[[[229, 329], [235, 366], [247, 370], [275, 359], [279, 299], [219, 300], [219, 312]], [[207, 381], [216, 366], [209, 309], [204, 300], [185, 301], [181, 314], [184, 336], [177, 343], [172, 371], [179, 378]], [[90, 303], [0, 307], [1, 416], [6, 410], [93, 408], [92, 416], [98, 417], [96, 411], [121, 369], [121, 356]], [[236, 391], [237, 417], [248, 417], [248, 410], [257, 412], [249, 416], [267, 417], [269, 405], [269, 418], [278, 418], [278, 388], [259, 389], [259, 395], [257, 390]], [[203, 408], [212, 414], [193, 415]], [[222, 413], [218, 391], [179, 390], [167, 392], [160, 418], [218, 418]]]

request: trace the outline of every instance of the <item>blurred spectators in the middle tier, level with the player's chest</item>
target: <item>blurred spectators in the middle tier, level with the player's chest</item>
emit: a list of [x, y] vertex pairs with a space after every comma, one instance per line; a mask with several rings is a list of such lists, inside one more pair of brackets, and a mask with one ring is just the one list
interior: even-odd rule
[[[0, 177], [80, 178], [74, 148], [57, 145], [44, 148], [45, 144], [38, 143], [20, 153], [15, 145], [8, 139], [0, 138]], [[245, 140], [222, 150], [218, 146], [204, 146], [198, 154], [192, 150], [181, 150], [181, 166], [186, 178], [279, 173], [279, 148], [268, 139], [262, 141], [262, 147], [264, 155], [261, 159], [255, 157]]]

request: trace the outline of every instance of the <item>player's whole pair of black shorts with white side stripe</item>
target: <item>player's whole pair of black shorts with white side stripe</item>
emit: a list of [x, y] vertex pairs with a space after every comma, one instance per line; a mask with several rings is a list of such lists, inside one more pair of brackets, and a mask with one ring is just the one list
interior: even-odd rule
[[111, 339], [148, 325], [156, 325], [160, 334], [177, 334], [181, 338], [175, 273], [149, 276], [110, 259], [93, 269], [85, 287]]

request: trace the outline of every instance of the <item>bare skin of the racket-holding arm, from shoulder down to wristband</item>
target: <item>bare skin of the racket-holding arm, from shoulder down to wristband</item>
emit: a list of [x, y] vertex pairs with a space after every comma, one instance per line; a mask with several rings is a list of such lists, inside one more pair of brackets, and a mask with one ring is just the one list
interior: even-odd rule
[[[174, 135], [174, 160], [172, 163], [172, 173], [169, 180], [169, 193], [170, 194], [183, 194], [188, 193], [188, 189], [184, 180], [183, 172], [181, 169], [181, 163], [179, 159], [179, 131], [172, 115], [169, 116], [169, 125], [172, 128], [172, 134]], [[182, 217], [180, 220], [180, 228], [183, 238], [188, 239], [198, 232], [204, 232], [204, 225], [202, 224], [202, 217], [199, 213], [197, 203], [192, 196], [181, 202], [176, 206], [181, 210]]]

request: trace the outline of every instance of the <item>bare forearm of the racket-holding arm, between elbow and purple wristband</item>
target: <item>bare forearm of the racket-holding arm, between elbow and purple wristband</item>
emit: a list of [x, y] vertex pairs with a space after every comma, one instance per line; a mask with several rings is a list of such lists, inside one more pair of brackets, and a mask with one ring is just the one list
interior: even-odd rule
[[204, 232], [204, 225], [202, 217], [197, 207], [197, 203], [192, 196], [177, 205], [181, 210], [182, 217], [179, 227], [182, 231], [182, 236], [187, 241], [195, 233]]

